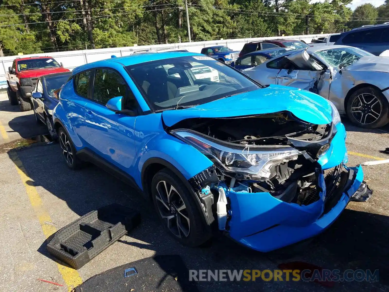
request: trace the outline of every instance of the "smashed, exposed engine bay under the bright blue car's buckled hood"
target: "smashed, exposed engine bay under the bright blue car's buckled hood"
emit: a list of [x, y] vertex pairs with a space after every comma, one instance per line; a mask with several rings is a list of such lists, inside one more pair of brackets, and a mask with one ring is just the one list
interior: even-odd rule
[[[318, 179], [323, 171], [317, 159], [328, 150], [329, 143], [336, 133], [336, 128], [332, 124], [307, 123], [289, 112], [239, 118], [193, 118], [183, 120], [169, 130], [173, 134], [187, 131], [187, 135], [192, 136], [184, 139], [191, 143], [197, 141], [193, 146], [200, 148], [200, 151], [216, 165], [214, 173], [205, 181], [206, 185], [200, 185], [201, 188], [210, 186], [212, 190], [219, 181], [234, 192], [269, 192], [277, 199], [299, 205], [312, 204], [320, 199], [319, 193], [322, 188]], [[208, 141], [209, 146], [206, 146]], [[233, 155], [225, 154], [227, 151], [219, 150], [217, 145], [240, 150], [236, 150]], [[280, 149], [279, 151], [290, 149], [296, 151], [296, 155], [291, 153], [288, 157], [277, 159], [273, 164], [265, 164], [264, 168], [270, 165], [268, 177], [266, 175], [261, 177], [255, 174], [255, 171], [252, 172], [250, 164], [246, 165], [244, 162], [237, 164], [235, 161], [237, 156], [241, 155], [252, 165], [257, 162], [260, 164], [261, 158], [254, 161], [256, 158], [253, 158], [253, 155], [263, 156], [251, 153], [255, 153], [257, 149], [266, 151], [268, 148], [271, 148], [273, 153], [265, 156], [266, 158], [277, 155], [277, 152], [274, 153], [278, 151], [277, 149]], [[232, 157], [235, 157], [235, 160]], [[247, 167], [247, 171], [244, 167]], [[207, 173], [203, 175], [207, 176]], [[331, 172], [327, 175], [326, 182], [332, 179], [337, 183], [339, 178], [340, 171], [334, 174]], [[204, 193], [204, 190], [202, 192]], [[217, 192], [214, 195], [217, 197]]]

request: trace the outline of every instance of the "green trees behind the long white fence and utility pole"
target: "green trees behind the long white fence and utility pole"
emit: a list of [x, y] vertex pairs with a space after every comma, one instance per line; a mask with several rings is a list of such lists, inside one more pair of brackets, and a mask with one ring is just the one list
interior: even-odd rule
[[[354, 12], [347, 7], [351, 1], [187, 0], [191, 39], [335, 33], [389, 21], [389, 0], [378, 8], [361, 5]], [[184, 0], [0, 4], [0, 56], [188, 41]]]

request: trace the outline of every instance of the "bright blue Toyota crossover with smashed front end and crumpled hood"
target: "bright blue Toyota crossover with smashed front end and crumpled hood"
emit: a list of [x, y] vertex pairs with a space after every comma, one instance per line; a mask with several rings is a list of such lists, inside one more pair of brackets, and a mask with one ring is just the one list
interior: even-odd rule
[[[219, 80], [197, 79], [198, 65]], [[68, 167], [93, 162], [128, 182], [188, 246], [213, 226], [262, 252], [312, 237], [363, 180], [360, 165], [345, 165], [346, 131], [331, 102], [262, 86], [196, 53], [77, 67], [53, 119]]]

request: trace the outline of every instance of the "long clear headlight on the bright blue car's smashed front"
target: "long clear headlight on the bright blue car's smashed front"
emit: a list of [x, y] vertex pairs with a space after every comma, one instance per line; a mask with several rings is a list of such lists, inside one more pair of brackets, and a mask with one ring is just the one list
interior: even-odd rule
[[172, 134], [197, 148], [219, 168], [241, 173], [242, 179], [267, 181], [277, 173], [275, 165], [296, 160], [301, 154], [290, 146], [224, 146], [185, 130]]

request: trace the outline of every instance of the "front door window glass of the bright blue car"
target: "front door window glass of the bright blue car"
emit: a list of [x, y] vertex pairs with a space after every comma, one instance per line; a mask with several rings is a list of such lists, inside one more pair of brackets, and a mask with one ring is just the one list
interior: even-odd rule
[[96, 69], [93, 84], [93, 100], [106, 104], [113, 97], [126, 96], [127, 83], [123, 77], [111, 69]]

